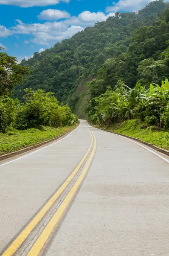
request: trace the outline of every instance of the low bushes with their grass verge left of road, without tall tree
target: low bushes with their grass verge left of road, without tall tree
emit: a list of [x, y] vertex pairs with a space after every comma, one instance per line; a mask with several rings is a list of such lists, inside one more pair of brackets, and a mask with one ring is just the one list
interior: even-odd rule
[[[23, 103], [0, 97], [0, 155], [50, 140], [76, 127], [77, 117], [53, 93], [25, 90]], [[58, 128], [59, 127], [59, 128]]]

